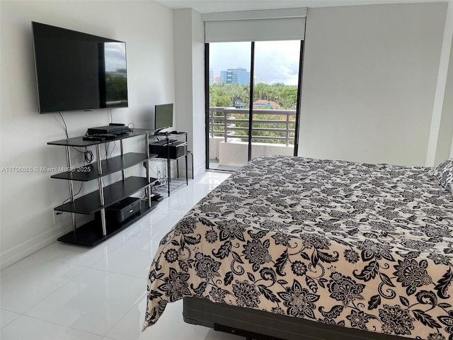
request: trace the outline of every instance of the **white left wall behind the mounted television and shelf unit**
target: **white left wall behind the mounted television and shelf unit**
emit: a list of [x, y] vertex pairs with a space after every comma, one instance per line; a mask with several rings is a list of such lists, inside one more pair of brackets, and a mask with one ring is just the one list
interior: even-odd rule
[[[129, 108], [112, 110], [114, 122], [152, 128], [154, 105], [174, 101], [173, 13], [152, 1], [0, 1], [1, 167], [65, 166], [58, 114], [40, 115], [35, 85], [31, 21], [127, 43]], [[63, 113], [69, 137], [107, 125], [108, 111]], [[144, 141], [127, 142], [143, 147]], [[117, 146], [116, 150], [119, 149]], [[73, 152], [74, 162], [82, 164]], [[69, 214], [54, 224], [53, 208], [69, 197], [68, 183], [49, 173], [1, 173], [1, 267], [54, 242], [71, 229]], [[92, 191], [96, 183], [84, 184]], [[78, 190], [79, 186], [74, 185]]]

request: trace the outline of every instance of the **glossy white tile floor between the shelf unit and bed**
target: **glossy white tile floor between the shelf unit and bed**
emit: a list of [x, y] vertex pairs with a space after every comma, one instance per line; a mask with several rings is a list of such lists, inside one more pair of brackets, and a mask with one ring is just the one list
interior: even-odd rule
[[182, 302], [142, 332], [161, 237], [229, 174], [206, 172], [93, 248], [55, 242], [0, 272], [1, 340], [238, 340], [185, 324]]

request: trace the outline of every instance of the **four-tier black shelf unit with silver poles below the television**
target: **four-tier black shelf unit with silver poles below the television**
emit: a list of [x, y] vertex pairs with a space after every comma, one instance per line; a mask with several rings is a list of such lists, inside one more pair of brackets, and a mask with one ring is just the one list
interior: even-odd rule
[[[144, 137], [145, 152], [123, 152], [123, 140], [131, 137]], [[72, 231], [58, 238], [60, 242], [80, 244], [84, 246], [94, 246], [99, 242], [113, 236], [120, 230], [132, 225], [133, 222], [150, 212], [157, 204], [151, 201], [148, 195], [147, 200], [140, 200], [140, 211], [137, 215], [130, 217], [125, 222], [117, 223], [109, 220], [105, 215], [105, 208], [127, 198], [144, 188], [151, 193], [151, 182], [149, 181], [149, 159], [157, 157], [157, 154], [150, 154], [148, 147], [149, 131], [144, 129], [134, 129], [126, 134], [118, 135], [113, 140], [92, 141], [83, 140], [84, 136], [69, 138], [67, 140], [57, 140], [48, 142], [47, 145], [59, 145], [66, 148], [67, 167], [65, 171], [52, 175], [52, 179], [63, 179], [69, 183], [70, 199], [68, 203], [57, 206], [54, 210], [61, 212], [71, 212]], [[101, 145], [120, 141], [120, 156], [110, 159], [101, 159]], [[96, 147], [96, 162], [86, 166], [71, 166], [70, 147]], [[101, 162], [99, 162], [101, 160]], [[125, 177], [125, 169], [139, 164], [146, 164], [146, 177], [130, 176]], [[122, 171], [121, 181], [103, 187], [102, 177], [115, 172]], [[98, 180], [98, 191], [88, 193], [81, 198], [74, 199], [73, 181], [93, 181]], [[95, 218], [86, 222], [84, 225], [76, 225], [76, 214], [91, 215]]]

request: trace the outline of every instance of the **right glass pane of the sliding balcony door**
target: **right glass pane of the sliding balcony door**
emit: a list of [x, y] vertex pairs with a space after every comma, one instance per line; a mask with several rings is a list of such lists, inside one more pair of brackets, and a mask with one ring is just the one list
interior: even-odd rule
[[301, 42], [255, 42], [252, 158], [294, 154]]

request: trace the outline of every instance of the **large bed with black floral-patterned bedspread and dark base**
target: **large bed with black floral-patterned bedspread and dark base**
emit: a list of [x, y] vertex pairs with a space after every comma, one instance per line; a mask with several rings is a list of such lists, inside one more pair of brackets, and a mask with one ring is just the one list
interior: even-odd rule
[[453, 161], [257, 157], [151, 263], [144, 329], [184, 319], [268, 339], [453, 339]]

